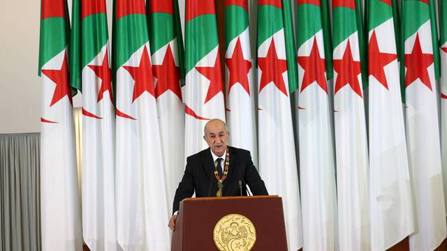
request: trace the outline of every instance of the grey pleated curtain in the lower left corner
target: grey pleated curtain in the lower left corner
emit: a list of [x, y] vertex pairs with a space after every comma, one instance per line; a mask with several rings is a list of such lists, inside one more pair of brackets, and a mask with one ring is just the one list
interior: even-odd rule
[[40, 134], [0, 135], [0, 251], [41, 250]]

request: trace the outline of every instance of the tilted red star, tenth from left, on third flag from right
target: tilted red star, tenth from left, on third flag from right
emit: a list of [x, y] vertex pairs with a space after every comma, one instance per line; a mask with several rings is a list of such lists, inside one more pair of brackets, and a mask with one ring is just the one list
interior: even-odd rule
[[385, 71], [383, 67], [387, 66], [397, 59], [396, 54], [382, 53], [379, 51], [377, 43], [376, 31], [372, 31], [371, 39], [369, 39], [369, 75], [372, 75], [388, 90]]

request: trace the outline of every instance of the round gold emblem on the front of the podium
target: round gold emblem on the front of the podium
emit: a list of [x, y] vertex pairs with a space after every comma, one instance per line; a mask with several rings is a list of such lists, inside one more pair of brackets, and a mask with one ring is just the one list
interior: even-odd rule
[[233, 213], [217, 222], [212, 238], [220, 251], [249, 251], [256, 242], [256, 229], [247, 217]]

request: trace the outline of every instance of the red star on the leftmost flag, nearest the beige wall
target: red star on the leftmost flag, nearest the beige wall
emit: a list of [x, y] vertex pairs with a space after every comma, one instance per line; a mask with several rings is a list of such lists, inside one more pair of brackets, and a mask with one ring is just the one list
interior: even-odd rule
[[68, 68], [67, 68], [67, 54], [64, 54], [64, 59], [62, 61], [62, 66], [60, 70], [44, 70], [42, 69], [42, 73], [45, 74], [49, 79], [56, 84], [56, 88], [54, 89], [53, 98], [51, 100], [50, 107], [52, 107], [59, 100], [68, 97], [71, 105], [73, 105], [73, 100], [71, 100], [71, 91], [68, 84]]

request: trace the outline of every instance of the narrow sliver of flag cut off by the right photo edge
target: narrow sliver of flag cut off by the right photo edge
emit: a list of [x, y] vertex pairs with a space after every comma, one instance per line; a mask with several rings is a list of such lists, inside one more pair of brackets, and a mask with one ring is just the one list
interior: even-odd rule
[[441, 158], [444, 202], [447, 211], [447, 1], [439, 1], [439, 45], [441, 46]]

